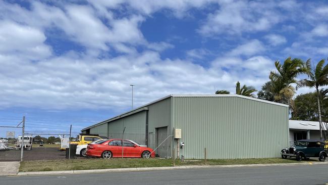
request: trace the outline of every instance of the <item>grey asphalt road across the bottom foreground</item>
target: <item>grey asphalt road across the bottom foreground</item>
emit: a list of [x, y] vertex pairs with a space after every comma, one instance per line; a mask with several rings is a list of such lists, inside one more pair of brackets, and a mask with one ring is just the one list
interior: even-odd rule
[[233, 167], [0, 177], [0, 184], [326, 184], [328, 165]]

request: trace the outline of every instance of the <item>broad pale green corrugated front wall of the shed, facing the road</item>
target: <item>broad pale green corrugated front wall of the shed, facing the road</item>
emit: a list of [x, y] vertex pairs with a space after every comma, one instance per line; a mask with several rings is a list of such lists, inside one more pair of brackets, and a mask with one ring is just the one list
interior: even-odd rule
[[288, 107], [239, 97], [173, 97], [173, 127], [185, 158], [280, 157], [288, 146]]

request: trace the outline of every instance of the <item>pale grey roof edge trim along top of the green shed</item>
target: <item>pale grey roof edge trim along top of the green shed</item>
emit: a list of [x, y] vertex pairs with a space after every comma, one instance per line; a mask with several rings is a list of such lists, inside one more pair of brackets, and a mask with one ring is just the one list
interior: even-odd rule
[[263, 102], [263, 103], [267, 103], [267, 104], [273, 104], [273, 105], [278, 105], [278, 106], [283, 106], [283, 107], [289, 107], [289, 106], [286, 105], [286, 104], [280, 104], [280, 103], [276, 103], [276, 102], [270, 102], [270, 101], [266, 101], [266, 100], [261, 100], [261, 99], [251, 98], [251, 97], [246, 97], [246, 96], [241, 96], [241, 95], [231, 95], [231, 94], [229, 94], [229, 95], [215, 95], [215, 94], [214, 94], [214, 95], [213, 95], [213, 94], [207, 94], [207, 95], [206, 95], [206, 94], [187, 94], [187, 95], [184, 95], [184, 94], [174, 94], [174, 95], [168, 95], [168, 96], [166, 96], [166, 97], [160, 98], [160, 99], [158, 99], [158, 100], [155, 100], [155, 101], [153, 101], [153, 102], [150, 102], [150, 103], [148, 103], [148, 104], [145, 104], [145, 105], [143, 105], [143, 106], [141, 106], [141, 107], [138, 107], [138, 108], [136, 108], [136, 109], [133, 109], [133, 110], [131, 110], [131, 111], [125, 112], [125, 113], [123, 113], [123, 114], [120, 114], [120, 115], [118, 115], [118, 116], [116, 116], [116, 117], [113, 117], [113, 118], [111, 118], [111, 119], [107, 119], [107, 120], [101, 121], [101, 122], [99, 122], [99, 123], [97, 123], [97, 124], [94, 124], [94, 125], [92, 125], [92, 126], [89, 126], [89, 127], [83, 128], [81, 131], [84, 131], [84, 130], [89, 129], [89, 128], [92, 128], [92, 127], [95, 127], [95, 126], [97, 126], [97, 125], [104, 124], [104, 123], [106, 123], [106, 122], [111, 122], [111, 121], [114, 121], [114, 120], [116, 120], [116, 119], [120, 119], [120, 118], [122, 118], [122, 117], [128, 116], [128, 115], [130, 115], [130, 114], [134, 114], [134, 113], [136, 113], [136, 112], [143, 111], [145, 107], [147, 107], [147, 106], [149, 106], [149, 105], [151, 105], [151, 104], [157, 103], [157, 102], [159, 102], [159, 101], [162, 101], [162, 100], [168, 99], [168, 98], [170, 98], [170, 97], [238, 97], [238, 98], [243, 98], [243, 99], [253, 100], [253, 101], [257, 101], [257, 102]]

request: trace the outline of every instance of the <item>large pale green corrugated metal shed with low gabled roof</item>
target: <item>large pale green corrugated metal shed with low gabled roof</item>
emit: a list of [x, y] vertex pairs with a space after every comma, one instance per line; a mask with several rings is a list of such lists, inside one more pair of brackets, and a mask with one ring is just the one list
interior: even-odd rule
[[134, 140], [165, 158], [202, 159], [204, 148], [208, 159], [269, 158], [288, 146], [288, 117], [288, 105], [240, 95], [169, 95], [82, 132]]

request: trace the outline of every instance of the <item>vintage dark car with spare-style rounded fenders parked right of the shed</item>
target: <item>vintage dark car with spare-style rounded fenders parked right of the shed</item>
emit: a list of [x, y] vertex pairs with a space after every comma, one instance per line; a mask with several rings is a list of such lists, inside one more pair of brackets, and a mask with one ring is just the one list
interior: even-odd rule
[[281, 151], [281, 157], [296, 157], [297, 161], [309, 159], [310, 157], [318, 157], [319, 161], [324, 161], [327, 151], [324, 150], [325, 142], [319, 140], [298, 140], [290, 148]]

